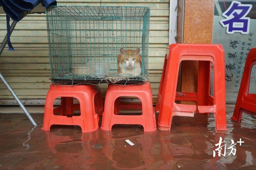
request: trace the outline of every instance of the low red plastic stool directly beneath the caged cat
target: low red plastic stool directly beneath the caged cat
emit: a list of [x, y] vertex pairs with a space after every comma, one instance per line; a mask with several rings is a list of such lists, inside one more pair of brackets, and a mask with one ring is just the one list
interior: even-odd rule
[[[119, 111], [115, 109], [117, 108], [115, 105], [119, 105], [119, 97], [121, 96], [138, 97], [142, 106], [134, 106], [142, 108], [142, 115], [116, 115], [115, 113]], [[118, 108], [121, 110], [124, 106]], [[149, 82], [125, 86], [108, 84], [101, 129], [111, 131], [114, 124], [141, 124], [145, 132], [156, 130], [155, 110], [152, 103], [152, 91]]]

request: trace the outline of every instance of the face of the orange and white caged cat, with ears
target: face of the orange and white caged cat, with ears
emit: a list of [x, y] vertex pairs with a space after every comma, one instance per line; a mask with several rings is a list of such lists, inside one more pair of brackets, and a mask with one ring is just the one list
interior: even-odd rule
[[120, 49], [120, 63], [122, 67], [126, 69], [132, 69], [134, 67], [138, 67], [138, 64], [141, 63], [141, 55], [140, 48], [136, 50], [124, 50], [124, 48]]

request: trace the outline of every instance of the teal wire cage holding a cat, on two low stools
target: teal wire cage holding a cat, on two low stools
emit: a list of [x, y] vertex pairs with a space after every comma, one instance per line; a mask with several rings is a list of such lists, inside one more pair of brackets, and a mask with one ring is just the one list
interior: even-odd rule
[[51, 6], [52, 81], [148, 81], [149, 7]]

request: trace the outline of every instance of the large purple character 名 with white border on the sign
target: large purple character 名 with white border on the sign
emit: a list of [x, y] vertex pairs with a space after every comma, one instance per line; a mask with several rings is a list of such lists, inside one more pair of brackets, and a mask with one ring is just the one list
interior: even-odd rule
[[222, 14], [226, 19], [220, 20], [223, 27], [227, 27], [226, 32], [233, 34], [241, 32], [242, 34], [249, 33], [250, 18], [245, 17], [252, 9], [252, 4], [241, 4], [237, 1], [232, 1], [228, 9]]

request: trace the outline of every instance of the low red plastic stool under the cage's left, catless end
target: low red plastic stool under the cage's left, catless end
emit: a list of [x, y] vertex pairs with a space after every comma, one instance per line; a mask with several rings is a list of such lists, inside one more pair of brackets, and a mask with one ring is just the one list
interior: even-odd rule
[[[61, 97], [61, 105], [53, 109], [53, 101]], [[80, 104], [73, 103], [75, 97]], [[94, 106], [94, 98], [97, 107]], [[80, 110], [80, 116], [74, 116], [74, 111]], [[98, 86], [50, 85], [44, 107], [44, 123], [42, 130], [49, 131], [52, 124], [79, 125], [82, 132], [96, 131], [99, 127], [99, 116], [103, 111], [102, 97]], [[59, 115], [55, 115], [59, 113]]]

